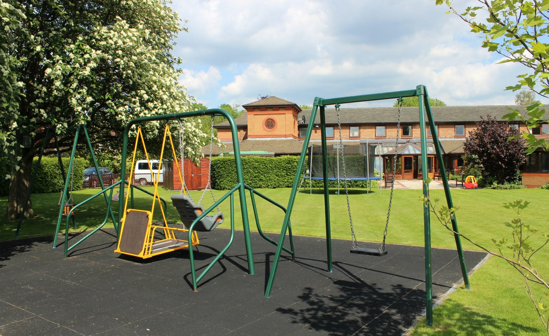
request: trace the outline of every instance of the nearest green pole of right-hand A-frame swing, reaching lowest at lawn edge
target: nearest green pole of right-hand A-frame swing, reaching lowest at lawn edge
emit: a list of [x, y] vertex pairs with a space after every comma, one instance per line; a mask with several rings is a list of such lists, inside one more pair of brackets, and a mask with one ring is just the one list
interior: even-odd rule
[[[424, 101], [427, 100], [425, 87], [417, 86], [417, 95], [419, 98], [419, 132], [421, 134], [421, 169], [423, 181], [429, 177], [427, 167], [427, 137], [425, 136], [425, 108]], [[404, 164], [404, 163], [403, 163]], [[429, 197], [427, 184], [423, 182], [423, 196]], [[427, 312], [427, 324], [433, 325], [433, 272], [431, 265], [431, 221], [429, 213], [429, 204], [422, 205], [423, 208], [423, 230], [425, 236], [425, 311]]]

